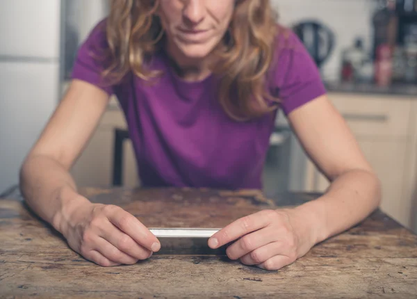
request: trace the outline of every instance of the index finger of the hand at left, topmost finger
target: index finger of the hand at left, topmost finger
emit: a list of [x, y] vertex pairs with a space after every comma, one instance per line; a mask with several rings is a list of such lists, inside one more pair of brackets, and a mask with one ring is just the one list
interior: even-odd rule
[[106, 213], [108, 220], [122, 232], [131, 236], [136, 243], [153, 252], [161, 248], [161, 243], [156, 239], [156, 236], [131, 213], [113, 205], [108, 205], [106, 209], [108, 210]]

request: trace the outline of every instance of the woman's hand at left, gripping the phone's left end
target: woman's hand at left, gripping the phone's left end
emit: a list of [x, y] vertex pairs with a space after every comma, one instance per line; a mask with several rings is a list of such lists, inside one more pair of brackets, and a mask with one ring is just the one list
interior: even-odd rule
[[113, 204], [83, 203], [65, 222], [70, 247], [100, 266], [136, 264], [161, 248], [145, 225]]

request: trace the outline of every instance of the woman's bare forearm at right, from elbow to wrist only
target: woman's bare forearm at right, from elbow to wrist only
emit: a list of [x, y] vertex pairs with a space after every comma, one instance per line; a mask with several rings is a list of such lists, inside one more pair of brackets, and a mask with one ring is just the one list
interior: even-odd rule
[[366, 170], [350, 170], [332, 181], [324, 195], [296, 209], [309, 220], [319, 243], [359, 223], [380, 200], [379, 179]]

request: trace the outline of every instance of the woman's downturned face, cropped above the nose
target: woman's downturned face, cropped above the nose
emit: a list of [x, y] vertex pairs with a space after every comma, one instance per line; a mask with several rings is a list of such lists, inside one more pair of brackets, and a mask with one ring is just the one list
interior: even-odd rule
[[158, 15], [170, 47], [204, 58], [227, 31], [235, 0], [161, 0]]

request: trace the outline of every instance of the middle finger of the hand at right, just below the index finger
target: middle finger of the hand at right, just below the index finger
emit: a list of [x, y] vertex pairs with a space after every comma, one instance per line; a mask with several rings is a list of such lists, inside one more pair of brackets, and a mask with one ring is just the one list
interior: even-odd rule
[[256, 248], [260, 248], [263, 245], [277, 241], [277, 239], [277, 232], [273, 229], [268, 229], [268, 227], [259, 229], [256, 232], [243, 236], [238, 241], [230, 245], [226, 250], [227, 256], [230, 259], [239, 259], [245, 254], [256, 250]]

